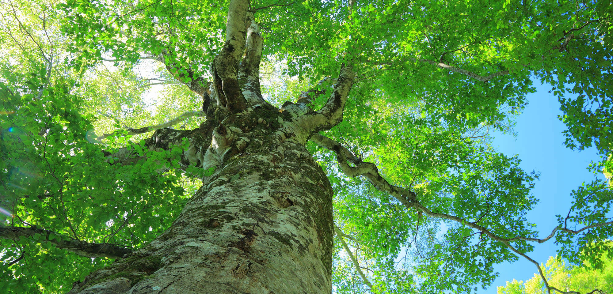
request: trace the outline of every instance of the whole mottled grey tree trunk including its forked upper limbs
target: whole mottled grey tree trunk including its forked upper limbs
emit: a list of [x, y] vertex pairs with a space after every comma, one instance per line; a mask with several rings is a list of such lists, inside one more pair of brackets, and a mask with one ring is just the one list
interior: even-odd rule
[[186, 83], [203, 97], [206, 120], [194, 130], [158, 129], [145, 143], [169, 149], [186, 138], [180, 167], [215, 172], [166, 232], [69, 293], [332, 292], [332, 187], [305, 143], [340, 123], [354, 75], [340, 67], [320, 110], [302, 96], [300, 110], [268, 104], [259, 85], [263, 40], [247, 7], [230, 1], [213, 82]]

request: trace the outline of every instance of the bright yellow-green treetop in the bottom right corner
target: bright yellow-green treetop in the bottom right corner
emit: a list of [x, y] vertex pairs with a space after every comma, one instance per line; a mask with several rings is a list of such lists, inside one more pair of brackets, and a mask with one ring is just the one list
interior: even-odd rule
[[[613, 263], [611, 258], [603, 258], [604, 264], [600, 269], [566, 265], [558, 257], [549, 257], [545, 270], [549, 284], [562, 290], [577, 290], [582, 293], [591, 292], [594, 285], [600, 285], [600, 293], [611, 293], [613, 291]], [[541, 265], [543, 266], [543, 265]], [[498, 287], [498, 294], [527, 294], [527, 293], [546, 293], [543, 282], [538, 274], [528, 281], [506, 282], [506, 286]]]

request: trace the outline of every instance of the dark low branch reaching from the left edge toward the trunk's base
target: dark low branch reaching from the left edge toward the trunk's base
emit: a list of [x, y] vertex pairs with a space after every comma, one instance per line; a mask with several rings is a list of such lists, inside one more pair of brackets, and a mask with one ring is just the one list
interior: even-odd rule
[[40, 241], [47, 241], [56, 247], [85, 257], [120, 258], [133, 250], [128, 247], [109, 243], [88, 243], [75, 238], [69, 238], [50, 230], [36, 227], [7, 227], [0, 225], [0, 238], [17, 239], [19, 237], [30, 238], [40, 236]]

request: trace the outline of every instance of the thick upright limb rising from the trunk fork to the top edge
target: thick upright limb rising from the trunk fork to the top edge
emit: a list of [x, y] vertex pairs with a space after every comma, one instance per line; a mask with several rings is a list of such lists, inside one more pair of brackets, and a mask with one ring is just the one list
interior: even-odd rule
[[230, 1], [226, 43], [213, 60], [213, 89], [217, 104], [233, 113], [243, 111], [247, 107], [237, 77], [240, 58], [245, 50], [247, 6], [246, 0]]

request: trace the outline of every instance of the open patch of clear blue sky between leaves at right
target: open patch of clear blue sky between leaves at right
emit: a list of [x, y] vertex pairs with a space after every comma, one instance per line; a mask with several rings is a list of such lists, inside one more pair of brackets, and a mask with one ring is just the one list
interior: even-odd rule
[[[535, 82], [538, 84], [538, 82]], [[520, 166], [526, 171], [536, 170], [541, 178], [536, 182], [533, 194], [541, 201], [528, 214], [540, 232], [539, 237], [549, 235], [557, 225], [556, 214], [568, 213], [571, 205], [570, 192], [581, 186], [582, 181], [592, 181], [594, 175], [587, 171], [591, 160], [600, 157], [596, 149], [578, 152], [565, 148], [562, 131], [565, 126], [557, 116], [562, 114], [558, 100], [547, 91], [551, 86], [537, 85], [537, 91], [528, 95], [528, 106], [517, 118], [517, 137], [494, 134], [493, 146], [504, 154], [519, 154]], [[543, 244], [535, 244], [535, 251], [528, 254], [539, 263], [545, 263], [550, 255], [555, 255], [553, 239]], [[515, 263], [503, 263], [495, 267], [500, 273], [498, 279], [487, 290], [479, 289], [479, 294], [496, 293], [496, 287], [505, 285], [512, 279], [526, 281], [533, 277], [537, 269], [533, 263], [520, 258]]]

